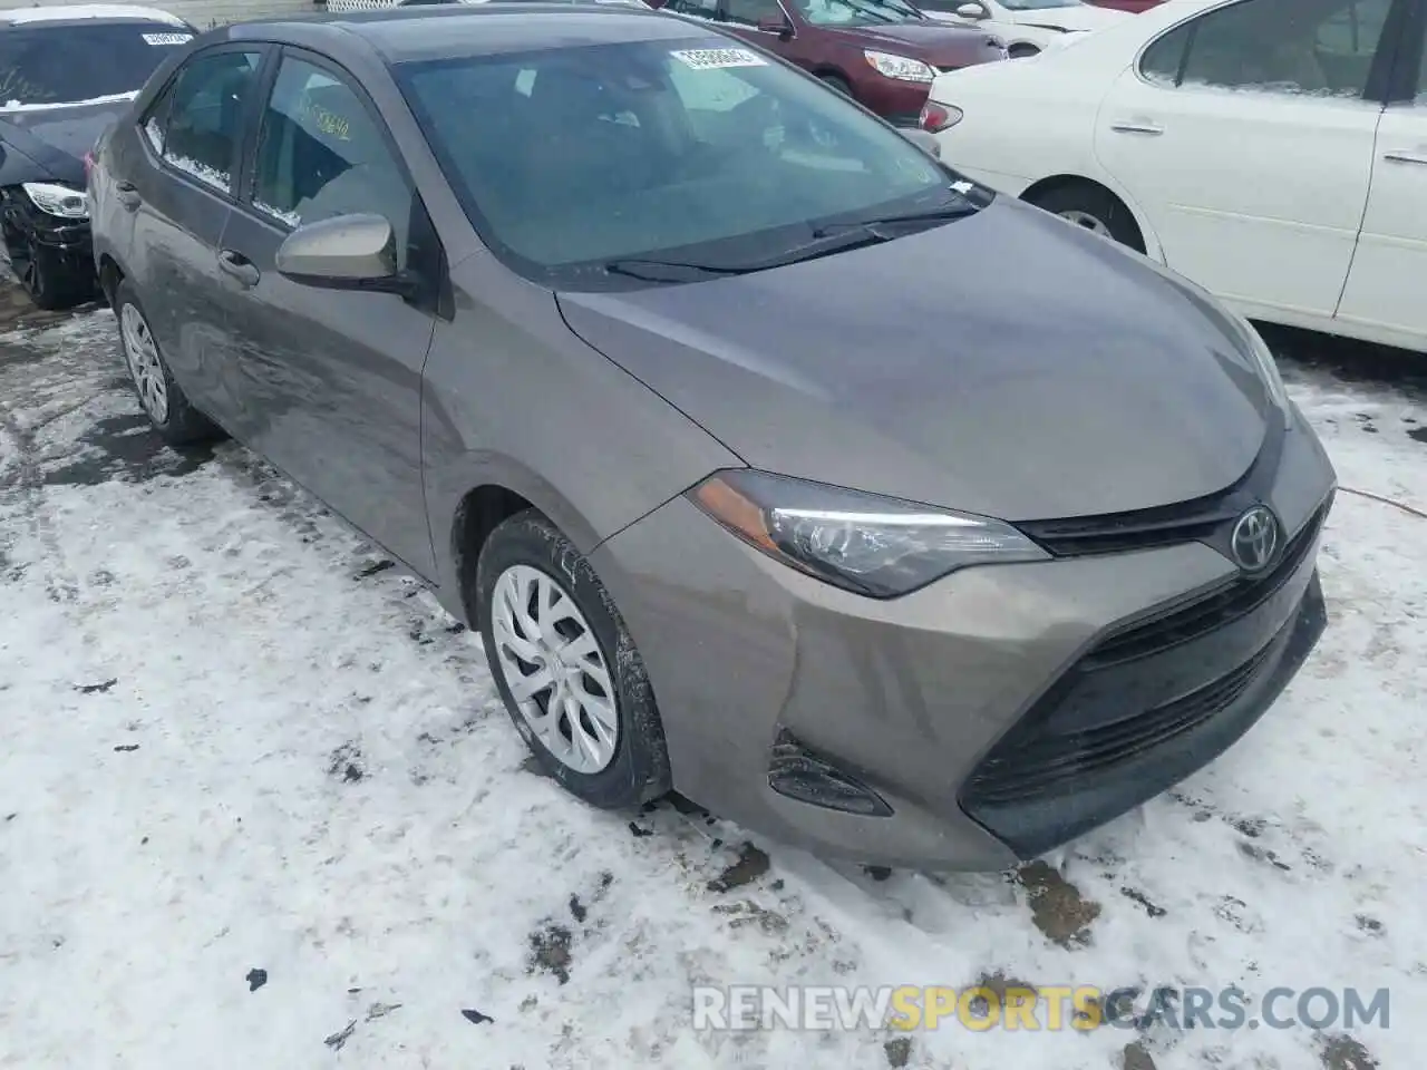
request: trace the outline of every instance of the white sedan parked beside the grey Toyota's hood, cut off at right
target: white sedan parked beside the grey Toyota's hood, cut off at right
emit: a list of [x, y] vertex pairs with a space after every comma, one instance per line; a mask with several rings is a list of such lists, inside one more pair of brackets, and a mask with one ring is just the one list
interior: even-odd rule
[[1167, 0], [939, 76], [923, 127], [1244, 315], [1427, 350], [1424, 24], [1427, 0]]

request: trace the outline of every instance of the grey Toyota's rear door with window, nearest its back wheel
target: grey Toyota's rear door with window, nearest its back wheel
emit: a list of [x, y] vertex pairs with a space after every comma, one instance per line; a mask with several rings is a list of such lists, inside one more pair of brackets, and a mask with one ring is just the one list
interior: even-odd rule
[[134, 215], [124, 268], [150, 328], [184, 392], [224, 427], [235, 399], [221, 379], [230, 340], [215, 255], [263, 58], [261, 47], [220, 46], [180, 67], [140, 118], [144, 158], [126, 168], [133, 188], [120, 191]]

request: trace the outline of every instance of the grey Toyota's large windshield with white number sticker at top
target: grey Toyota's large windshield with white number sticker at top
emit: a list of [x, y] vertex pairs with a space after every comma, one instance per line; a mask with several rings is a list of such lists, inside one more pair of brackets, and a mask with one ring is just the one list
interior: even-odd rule
[[828, 223], [973, 207], [900, 134], [722, 37], [408, 63], [397, 77], [487, 244], [555, 288], [631, 285], [611, 261], [748, 264]]

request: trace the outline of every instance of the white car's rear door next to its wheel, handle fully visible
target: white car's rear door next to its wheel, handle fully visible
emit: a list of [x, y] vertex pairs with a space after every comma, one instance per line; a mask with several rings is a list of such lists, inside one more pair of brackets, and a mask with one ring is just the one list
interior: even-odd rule
[[1167, 264], [1220, 297], [1331, 317], [1367, 203], [1394, 0], [1239, 0], [1179, 24], [1114, 83], [1102, 165]]

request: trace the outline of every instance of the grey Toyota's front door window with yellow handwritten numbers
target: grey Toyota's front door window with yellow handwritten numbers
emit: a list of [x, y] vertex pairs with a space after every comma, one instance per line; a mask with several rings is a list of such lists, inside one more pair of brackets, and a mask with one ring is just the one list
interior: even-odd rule
[[381, 127], [347, 83], [304, 60], [283, 60], [263, 113], [253, 207], [287, 227], [375, 213], [405, 255], [411, 187]]

